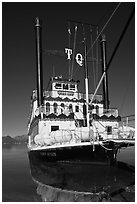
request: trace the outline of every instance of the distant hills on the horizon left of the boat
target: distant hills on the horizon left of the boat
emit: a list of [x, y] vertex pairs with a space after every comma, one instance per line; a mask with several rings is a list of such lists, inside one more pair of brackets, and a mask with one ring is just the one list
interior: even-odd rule
[[16, 137], [11, 136], [5, 136], [2, 137], [2, 144], [20, 144], [20, 143], [27, 143], [28, 142], [28, 136], [27, 135], [21, 135]]

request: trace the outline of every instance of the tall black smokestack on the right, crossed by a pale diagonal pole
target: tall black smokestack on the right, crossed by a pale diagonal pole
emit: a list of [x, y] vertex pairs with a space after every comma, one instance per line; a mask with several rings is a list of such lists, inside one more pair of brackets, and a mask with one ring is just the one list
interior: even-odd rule
[[102, 55], [102, 74], [105, 72], [103, 79], [103, 107], [109, 109], [109, 96], [108, 96], [108, 77], [107, 77], [107, 56], [106, 56], [106, 36], [101, 38], [101, 55]]

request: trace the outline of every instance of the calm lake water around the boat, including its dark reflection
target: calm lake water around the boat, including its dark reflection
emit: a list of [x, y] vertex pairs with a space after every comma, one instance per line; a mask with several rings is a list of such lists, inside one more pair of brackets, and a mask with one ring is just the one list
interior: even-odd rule
[[[43, 163], [29, 160], [25, 145], [4, 145], [2, 152], [2, 201], [97, 201], [99, 192], [111, 201], [134, 201], [132, 166]], [[118, 160], [134, 166], [134, 153], [135, 147], [123, 149]]]

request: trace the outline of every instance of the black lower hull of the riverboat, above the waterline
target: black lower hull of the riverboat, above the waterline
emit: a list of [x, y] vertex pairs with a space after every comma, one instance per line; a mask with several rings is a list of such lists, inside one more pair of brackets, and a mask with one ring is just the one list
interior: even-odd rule
[[108, 151], [102, 148], [100, 145], [95, 146], [93, 151], [92, 145], [87, 146], [75, 146], [64, 147], [56, 149], [45, 150], [31, 150], [29, 154], [32, 154], [34, 158], [48, 162], [105, 162], [113, 163], [116, 160], [116, 151]]

